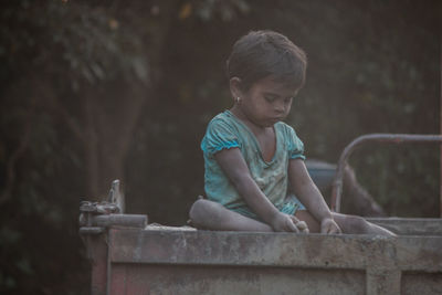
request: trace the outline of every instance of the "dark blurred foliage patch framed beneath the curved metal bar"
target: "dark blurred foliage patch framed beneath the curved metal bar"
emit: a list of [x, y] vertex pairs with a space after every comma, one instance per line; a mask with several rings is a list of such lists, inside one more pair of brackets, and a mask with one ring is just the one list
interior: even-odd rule
[[440, 147], [370, 145], [355, 152], [359, 178], [390, 215], [438, 218]]

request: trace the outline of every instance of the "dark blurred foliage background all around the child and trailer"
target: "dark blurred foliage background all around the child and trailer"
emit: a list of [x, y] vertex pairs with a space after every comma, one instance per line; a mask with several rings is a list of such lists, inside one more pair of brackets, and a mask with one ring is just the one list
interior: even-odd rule
[[[88, 294], [81, 200], [120, 179], [127, 212], [182, 225], [203, 192], [207, 123], [231, 106], [224, 63], [250, 30], [308, 55], [287, 123], [336, 162], [367, 133], [438, 134], [441, 1], [2, 1], [0, 293]], [[439, 217], [436, 145], [356, 151], [389, 215]], [[351, 213], [351, 212], [349, 212]]]

